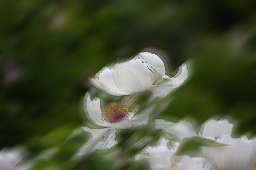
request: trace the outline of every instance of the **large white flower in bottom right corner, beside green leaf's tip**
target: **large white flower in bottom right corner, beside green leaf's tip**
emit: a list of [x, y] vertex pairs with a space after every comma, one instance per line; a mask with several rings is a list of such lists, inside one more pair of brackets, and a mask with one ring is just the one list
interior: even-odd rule
[[256, 139], [223, 135], [216, 141], [227, 146], [203, 147], [203, 155], [217, 170], [249, 170], [256, 163]]

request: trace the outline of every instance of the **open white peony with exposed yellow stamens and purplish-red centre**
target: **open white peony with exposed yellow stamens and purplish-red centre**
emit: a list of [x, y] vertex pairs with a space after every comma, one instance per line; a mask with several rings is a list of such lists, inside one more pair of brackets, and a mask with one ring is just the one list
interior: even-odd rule
[[[87, 118], [91, 123], [106, 128], [90, 129], [83, 127], [84, 131], [89, 134], [90, 139], [84, 144], [78, 155], [84, 155], [95, 149], [103, 150], [113, 147], [117, 144], [116, 129], [126, 129], [147, 124], [148, 114], [152, 109], [149, 107], [140, 115], [133, 116], [134, 113], [126, 105], [114, 103], [103, 109], [101, 109], [100, 105], [99, 98], [95, 97], [91, 101], [89, 92], [85, 94], [83, 108]], [[102, 138], [103, 141], [100, 141]]]

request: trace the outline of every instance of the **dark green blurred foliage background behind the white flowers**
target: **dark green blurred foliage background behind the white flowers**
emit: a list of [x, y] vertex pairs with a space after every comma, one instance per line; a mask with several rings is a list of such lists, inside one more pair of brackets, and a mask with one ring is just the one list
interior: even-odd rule
[[[88, 77], [145, 47], [163, 50], [171, 71], [193, 63], [158, 118], [201, 124], [229, 115], [238, 134], [255, 135], [255, 11], [255, 0], [0, 1], [0, 148], [37, 153], [62, 143], [84, 122]], [[80, 145], [72, 146], [55, 163], [63, 166]]]

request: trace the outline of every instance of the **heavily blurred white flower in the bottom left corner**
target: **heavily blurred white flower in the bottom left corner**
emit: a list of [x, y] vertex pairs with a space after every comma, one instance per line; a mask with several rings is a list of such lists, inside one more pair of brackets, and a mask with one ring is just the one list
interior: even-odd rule
[[22, 147], [3, 148], [0, 151], [0, 170], [12, 170], [27, 155]]

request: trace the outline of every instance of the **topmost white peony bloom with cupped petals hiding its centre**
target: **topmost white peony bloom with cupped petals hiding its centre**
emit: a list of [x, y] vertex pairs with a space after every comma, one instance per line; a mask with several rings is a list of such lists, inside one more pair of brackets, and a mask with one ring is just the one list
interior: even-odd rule
[[164, 98], [187, 77], [186, 64], [180, 66], [178, 74], [170, 78], [165, 75], [165, 65], [157, 55], [142, 52], [131, 60], [117, 63], [111, 69], [104, 67], [90, 81], [97, 88], [115, 96], [151, 90], [155, 96]]

